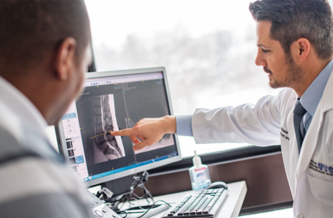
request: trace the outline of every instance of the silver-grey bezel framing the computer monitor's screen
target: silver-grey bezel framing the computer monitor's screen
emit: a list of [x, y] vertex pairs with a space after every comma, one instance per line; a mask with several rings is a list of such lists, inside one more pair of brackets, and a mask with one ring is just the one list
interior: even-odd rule
[[[85, 73], [85, 79], [108, 77], [108, 76], [131, 75], [131, 74], [140, 74], [140, 73], [142, 73], [142, 74], [144, 74], [144, 73], [154, 73], [154, 72], [162, 72], [163, 73], [163, 81], [164, 81], [165, 90], [166, 90], [166, 99], [168, 101], [170, 115], [173, 115], [173, 109], [172, 109], [172, 103], [171, 103], [171, 97], [170, 97], [170, 92], [169, 92], [165, 67], [140, 68], [140, 69], [103, 71], [103, 72], [89, 72], [89, 73]], [[67, 151], [67, 145], [66, 145], [62, 120], [59, 121], [59, 123], [55, 126], [55, 128], [56, 128], [56, 133], [57, 133], [59, 153], [61, 155], [63, 155], [65, 160], [69, 163], [68, 152], [65, 152], [65, 151]], [[166, 159], [158, 161], [158, 162], [149, 163], [149, 164], [146, 164], [146, 165], [143, 165], [143, 166], [139, 166], [139, 167], [135, 167], [135, 168], [132, 168], [132, 169], [124, 170], [124, 171], [114, 173], [114, 174], [111, 174], [111, 175], [108, 175], [108, 176], [103, 176], [103, 177], [99, 177], [99, 178], [96, 178], [96, 179], [93, 179], [93, 180], [84, 181], [83, 184], [86, 187], [91, 187], [91, 186], [99, 185], [99, 184], [104, 183], [104, 182], [112, 181], [112, 180], [115, 180], [115, 179], [118, 179], [118, 178], [133, 175], [135, 173], [143, 172], [143, 171], [154, 169], [154, 168], [164, 166], [164, 165], [167, 165], [167, 164], [170, 164], [170, 163], [174, 163], [176, 161], [180, 161], [180, 160], [182, 160], [182, 157], [181, 157], [181, 153], [180, 153], [180, 148], [179, 148], [177, 135], [174, 135], [174, 139], [175, 139], [176, 148], [177, 148], [177, 152], [178, 152], [178, 155], [175, 156], [175, 157], [166, 158]]]

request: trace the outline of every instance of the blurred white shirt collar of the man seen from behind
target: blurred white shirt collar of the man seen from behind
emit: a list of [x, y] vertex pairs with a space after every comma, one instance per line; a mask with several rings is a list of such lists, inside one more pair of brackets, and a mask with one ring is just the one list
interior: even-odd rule
[[0, 76], [0, 102], [10, 108], [22, 122], [46, 135], [46, 120], [36, 106], [15, 86]]

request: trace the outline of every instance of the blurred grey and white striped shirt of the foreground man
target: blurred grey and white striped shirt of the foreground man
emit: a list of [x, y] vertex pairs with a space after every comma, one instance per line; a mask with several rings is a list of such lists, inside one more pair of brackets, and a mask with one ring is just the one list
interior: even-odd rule
[[92, 217], [38, 110], [1, 77], [0, 93], [0, 217]]

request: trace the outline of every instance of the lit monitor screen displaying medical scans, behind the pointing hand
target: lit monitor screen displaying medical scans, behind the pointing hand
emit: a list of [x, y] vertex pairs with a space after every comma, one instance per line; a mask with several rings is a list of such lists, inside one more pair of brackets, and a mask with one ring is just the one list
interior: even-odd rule
[[90, 78], [84, 88], [62, 117], [70, 164], [80, 180], [178, 155], [172, 134], [135, 152], [128, 136], [110, 134], [134, 127], [142, 118], [170, 114], [162, 72]]

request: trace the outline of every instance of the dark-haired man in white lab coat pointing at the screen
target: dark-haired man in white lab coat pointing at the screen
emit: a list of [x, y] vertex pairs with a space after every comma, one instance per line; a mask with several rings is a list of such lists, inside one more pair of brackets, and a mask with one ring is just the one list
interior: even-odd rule
[[327, 1], [250, 4], [257, 22], [255, 64], [272, 88], [256, 105], [196, 109], [193, 115], [143, 119], [114, 132], [128, 135], [134, 150], [165, 133], [193, 136], [196, 143], [281, 144], [295, 217], [333, 216], [333, 19]]

